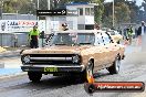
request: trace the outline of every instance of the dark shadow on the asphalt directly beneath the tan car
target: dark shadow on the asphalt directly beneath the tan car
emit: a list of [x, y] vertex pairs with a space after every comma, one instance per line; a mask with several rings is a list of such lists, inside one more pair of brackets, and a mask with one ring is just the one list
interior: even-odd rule
[[[108, 76], [109, 73], [95, 73], [94, 78], [100, 78], [100, 77], [105, 77]], [[48, 78], [49, 76], [44, 75], [45, 77], [43, 77], [41, 79], [40, 83], [28, 83], [28, 86], [31, 88], [62, 88], [62, 87], [66, 87], [66, 86], [71, 86], [71, 85], [81, 85], [84, 84], [85, 82], [82, 82], [79, 77], [74, 77], [74, 76], [51, 76], [50, 78]]]

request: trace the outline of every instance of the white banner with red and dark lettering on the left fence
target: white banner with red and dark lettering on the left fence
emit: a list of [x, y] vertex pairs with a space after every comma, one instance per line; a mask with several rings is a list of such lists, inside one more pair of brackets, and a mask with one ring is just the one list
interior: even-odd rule
[[0, 32], [29, 32], [35, 24], [39, 24], [41, 31], [45, 30], [45, 21], [0, 20]]

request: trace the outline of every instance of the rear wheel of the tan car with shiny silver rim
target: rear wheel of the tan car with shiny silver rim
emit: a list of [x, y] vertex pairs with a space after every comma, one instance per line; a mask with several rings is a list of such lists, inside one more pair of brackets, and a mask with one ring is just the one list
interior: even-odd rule
[[117, 56], [111, 67], [107, 68], [109, 74], [118, 74], [119, 72], [119, 66], [121, 66], [121, 60], [119, 56]]

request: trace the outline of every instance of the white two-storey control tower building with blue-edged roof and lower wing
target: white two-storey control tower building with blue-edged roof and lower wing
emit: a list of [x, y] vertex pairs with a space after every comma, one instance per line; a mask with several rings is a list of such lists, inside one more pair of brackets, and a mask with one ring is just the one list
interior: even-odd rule
[[[66, 15], [46, 17], [46, 25], [51, 23], [51, 31], [61, 30], [62, 23], [67, 23], [70, 30], [94, 30], [95, 3], [71, 2], [64, 7]], [[50, 21], [51, 20], [51, 21]], [[46, 29], [46, 33], [51, 33]]]

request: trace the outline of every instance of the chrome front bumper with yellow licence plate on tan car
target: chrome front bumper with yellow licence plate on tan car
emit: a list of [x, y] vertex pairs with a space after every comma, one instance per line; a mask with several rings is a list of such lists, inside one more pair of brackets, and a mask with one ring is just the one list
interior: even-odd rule
[[21, 66], [23, 72], [46, 72], [46, 73], [56, 73], [56, 72], [83, 72], [85, 65], [79, 66], [58, 66], [58, 65], [23, 65]]

